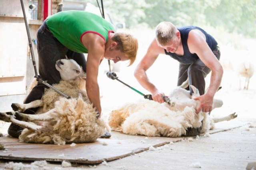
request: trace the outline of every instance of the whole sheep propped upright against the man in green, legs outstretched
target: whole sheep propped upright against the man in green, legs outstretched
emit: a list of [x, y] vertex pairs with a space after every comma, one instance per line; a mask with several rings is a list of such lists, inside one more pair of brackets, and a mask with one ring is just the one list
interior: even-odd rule
[[[21, 142], [64, 145], [96, 141], [110, 128], [103, 119], [98, 119], [98, 112], [83, 90], [86, 74], [72, 59], [57, 61], [56, 69], [62, 80], [53, 86], [70, 96], [70, 99], [49, 88], [41, 100], [29, 104], [12, 104], [14, 111], [0, 113], [0, 119], [25, 128], [19, 136]], [[22, 113], [31, 107], [40, 109], [35, 115]]]

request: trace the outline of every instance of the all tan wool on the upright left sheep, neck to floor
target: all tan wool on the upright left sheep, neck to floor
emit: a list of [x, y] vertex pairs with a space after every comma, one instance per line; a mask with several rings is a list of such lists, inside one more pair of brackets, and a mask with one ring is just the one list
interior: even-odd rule
[[[110, 128], [103, 119], [97, 119], [95, 108], [90, 103], [85, 90], [85, 80], [61, 80], [53, 86], [70, 96], [66, 99], [53, 89], [47, 89], [42, 97], [42, 113], [53, 109], [51, 121], [40, 122], [44, 128], [37, 131], [24, 129], [20, 141], [30, 143], [89, 143], [94, 142]], [[80, 87], [80, 88], [78, 88]]]

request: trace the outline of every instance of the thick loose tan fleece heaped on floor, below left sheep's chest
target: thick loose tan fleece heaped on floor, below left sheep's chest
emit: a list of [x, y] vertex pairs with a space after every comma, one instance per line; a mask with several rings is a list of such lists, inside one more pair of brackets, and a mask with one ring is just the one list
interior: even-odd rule
[[52, 121], [43, 124], [44, 130], [24, 129], [19, 139], [31, 143], [90, 143], [104, 134], [106, 124], [96, 118], [92, 104], [78, 99], [60, 98], [54, 104]]

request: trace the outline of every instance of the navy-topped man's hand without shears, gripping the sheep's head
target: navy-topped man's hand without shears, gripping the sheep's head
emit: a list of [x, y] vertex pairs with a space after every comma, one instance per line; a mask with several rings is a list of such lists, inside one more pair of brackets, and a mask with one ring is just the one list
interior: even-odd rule
[[196, 113], [199, 113], [201, 110], [203, 112], [212, 111], [213, 98], [211, 96], [207, 96], [207, 94], [204, 94], [202, 96], [194, 98], [194, 100], [199, 100], [200, 102], [199, 107], [196, 109]]

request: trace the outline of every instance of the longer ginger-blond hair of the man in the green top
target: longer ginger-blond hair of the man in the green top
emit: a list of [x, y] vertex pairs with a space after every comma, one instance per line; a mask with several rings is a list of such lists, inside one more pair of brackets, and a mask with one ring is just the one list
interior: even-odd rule
[[115, 33], [112, 37], [118, 45], [116, 50], [120, 50], [130, 60], [130, 65], [134, 63], [138, 51], [138, 40], [128, 33]]

